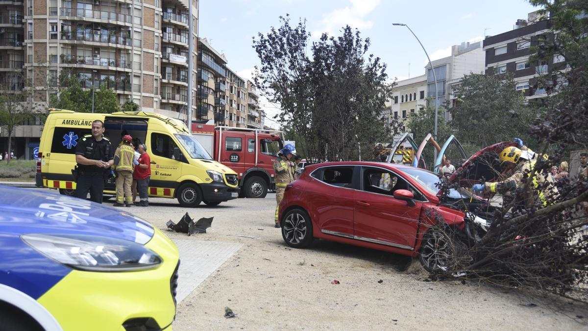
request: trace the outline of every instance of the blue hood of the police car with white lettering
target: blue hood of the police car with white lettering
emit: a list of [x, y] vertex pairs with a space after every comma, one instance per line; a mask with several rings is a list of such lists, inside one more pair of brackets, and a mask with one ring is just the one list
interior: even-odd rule
[[91, 234], [146, 244], [153, 226], [113, 207], [38, 189], [0, 186], [0, 235]]

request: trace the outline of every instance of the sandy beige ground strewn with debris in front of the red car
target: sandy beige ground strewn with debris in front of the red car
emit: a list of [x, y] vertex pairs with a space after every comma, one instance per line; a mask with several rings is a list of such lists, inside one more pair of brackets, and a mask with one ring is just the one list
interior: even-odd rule
[[[423, 274], [398, 271], [406, 257], [324, 240], [290, 249], [273, 227], [274, 208], [275, 196], [268, 194], [192, 209], [152, 198], [148, 208], [128, 209], [162, 230], [186, 211], [214, 216], [206, 234], [165, 233], [243, 244], [179, 304], [174, 330], [588, 329], [588, 309], [579, 303], [555, 304], [484, 284], [425, 282]], [[331, 284], [335, 279], [340, 284]], [[237, 317], [225, 319], [225, 307]]]

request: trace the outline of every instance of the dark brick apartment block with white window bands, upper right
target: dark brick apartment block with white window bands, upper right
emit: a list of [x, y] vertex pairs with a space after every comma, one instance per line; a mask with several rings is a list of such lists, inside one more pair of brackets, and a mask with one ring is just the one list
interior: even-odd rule
[[550, 27], [549, 20], [540, 20], [537, 12], [531, 12], [527, 19], [517, 20], [511, 31], [487, 37], [484, 40], [486, 75], [511, 72], [516, 81], [516, 90], [521, 91], [527, 101], [545, 97], [543, 88], [534, 87], [536, 77], [552, 68], [566, 69], [561, 55], [540, 63], [529, 62], [530, 47], [537, 45], [538, 38], [555, 38]]

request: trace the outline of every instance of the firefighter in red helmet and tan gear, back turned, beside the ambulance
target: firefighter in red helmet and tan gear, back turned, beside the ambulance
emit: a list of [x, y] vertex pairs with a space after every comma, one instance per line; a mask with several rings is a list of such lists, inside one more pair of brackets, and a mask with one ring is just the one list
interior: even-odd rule
[[135, 150], [131, 146], [133, 138], [130, 135], [122, 137], [122, 145], [114, 153], [114, 167], [116, 170], [116, 203], [115, 207], [131, 207], [133, 197], [131, 184], [133, 183], [133, 168], [135, 167]]

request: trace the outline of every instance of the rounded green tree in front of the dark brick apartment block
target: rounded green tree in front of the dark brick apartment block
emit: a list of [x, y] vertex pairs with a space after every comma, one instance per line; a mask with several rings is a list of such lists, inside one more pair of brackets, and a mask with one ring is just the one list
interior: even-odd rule
[[465, 75], [458, 101], [452, 108], [451, 125], [460, 142], [479, 150], [515, 137], [528, 140], [532, 113], [512, 76]]

